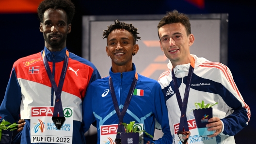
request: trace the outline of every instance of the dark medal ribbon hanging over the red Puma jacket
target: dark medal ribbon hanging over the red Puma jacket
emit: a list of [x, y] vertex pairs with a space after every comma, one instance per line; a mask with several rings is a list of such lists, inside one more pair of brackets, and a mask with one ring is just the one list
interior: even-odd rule
[[58, 86], [56, 85], [56, 82], [55, 82], [52, 72], [50, 70], [48, 60], [45, 57], [45, 51], [43, 51], [43, 55], [42, 55], [47, 75], [50, 79], [50, 83], [51, 83], [51, 85], [54, 89], [55, 95], [56, 95], [55, 104], [54, 104], [54, 112], [53, 112], [53, 116], [55, 116], [55, 117], [58, 117], [58, 113], [59, 113], [60, 117], [64, 117], [62, 101], [61, 101], [61, 93], [62, 93], [62, 87], [64, 84], [64, 79], [65, 79], [66, 70], [67, 70], [67, 64], [68, 64], [68, 56], [67, 55], [68, 54], [69, 54], [68, 51], [66, 51], [65, 58], [64, 58], [64, 64], [63, 64], [61, 77], [60, 77]]

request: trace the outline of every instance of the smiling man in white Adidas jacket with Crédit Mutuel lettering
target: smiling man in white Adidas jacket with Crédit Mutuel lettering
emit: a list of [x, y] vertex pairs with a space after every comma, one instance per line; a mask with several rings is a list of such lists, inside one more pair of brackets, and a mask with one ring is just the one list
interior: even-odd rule
[[[176, 97], [179, 91], [182, 101], [184, 94], [188, 93], [184, 113], [191, 132], [188, 144], [235, 144], [233, 135], [247, 126], [251, 113], [229, 69], [219, 62], [210, 62], [190, 54], [194, 36], [191, 34], [190, 22], [185, 14], [180, 14], [176, 10], [169, 12], [160, 20], [158, 31], [161, 50], [170, 59], [170, 70], [160, 75], [159, 83], [166, 98], [173, 143], [181, 144], [176, 134], [179, 131], [180, 118], [183, 116], [180, 110], [182, 107], [178, 104], [180, 99]], [[190, 77], [189, 69], [192, 70], [190, 82], [187, 81]], [[175, 90], [174, 79], [178, 90]], [[189, 90], [185, 90], [186, 86], [190, 86]], [[212, 107], [213, 117], [208, 119], [211, 123], [206, 125], [208, 131], [214, 131], [212, 135], [200, 136], [195, 125], [191, 110], [196, 108], [195, 102], [201, 101], [218, 102]]]

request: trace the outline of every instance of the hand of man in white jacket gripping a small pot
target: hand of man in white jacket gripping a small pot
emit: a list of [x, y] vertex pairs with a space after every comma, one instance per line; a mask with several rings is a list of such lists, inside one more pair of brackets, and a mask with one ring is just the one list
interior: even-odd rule
[[213, 133], [212, 135], [208, 135], [208, 137], [215, 137], [217, 136], [219, 133], [221, 133], [222, 131], [222, 122], [220, 120], [219, 117], [212, 117], [208, 120], [208, 122], [211, 122], [209, 124], [206, 125], [206, 127], [208, 128], [208, 131], [213, 131], [215, 130], [215, 133]]

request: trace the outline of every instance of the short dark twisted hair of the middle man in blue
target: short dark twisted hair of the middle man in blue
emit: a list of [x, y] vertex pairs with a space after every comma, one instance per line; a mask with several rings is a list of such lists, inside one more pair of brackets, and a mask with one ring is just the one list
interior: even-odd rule
[[131, 33], [131, 35], [133, 36], [133, 44], [136, 44], [136, 41], [138, 41], [138, 39], [141, 39], [141, 37], [138, 37], [137, 34], [139, 34], [137, 32], [138, 28], [135, 28], [132, 24], [127, 24], [125, 22], [120, 22], [118, 20], [114, 20], [114, 24], [108, 26], [108, 29], [103, 30], [103, 39], [108, 39], [109, 34], [114, 30], [114, 29], [126, 29], [127, 31], [129, 31]]

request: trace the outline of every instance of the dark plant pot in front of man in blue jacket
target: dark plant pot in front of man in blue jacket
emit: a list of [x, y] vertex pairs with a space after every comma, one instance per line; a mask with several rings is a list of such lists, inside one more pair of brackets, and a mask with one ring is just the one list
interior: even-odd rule
[[139, 144], [139, 132], [120, 133], [122, 144]]

